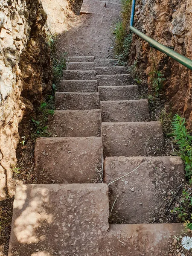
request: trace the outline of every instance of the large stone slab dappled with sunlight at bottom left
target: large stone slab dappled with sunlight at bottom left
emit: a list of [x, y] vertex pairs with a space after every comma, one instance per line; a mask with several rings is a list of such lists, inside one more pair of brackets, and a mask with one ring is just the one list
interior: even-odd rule
[[106, 184], [17, 186], [9, 256], [91, 255], [108, 215]]

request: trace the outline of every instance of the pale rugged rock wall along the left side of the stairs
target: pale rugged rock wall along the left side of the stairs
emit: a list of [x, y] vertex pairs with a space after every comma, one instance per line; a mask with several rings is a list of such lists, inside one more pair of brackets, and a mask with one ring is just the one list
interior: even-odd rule
[[0, 200], [12, 193], [19, 124], [51, 88], [46, 20], [40, 0], [0, 0]]

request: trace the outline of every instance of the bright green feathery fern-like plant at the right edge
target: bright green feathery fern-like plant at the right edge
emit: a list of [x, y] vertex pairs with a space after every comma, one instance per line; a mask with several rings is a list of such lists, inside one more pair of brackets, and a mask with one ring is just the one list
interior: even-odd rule
[[192, 136], [185, 126], [185, 118], [176, 114], [172, 122], [173, 136], [178, 145], [178, 154], [185, 163], [186, 177], [192, 183]]

